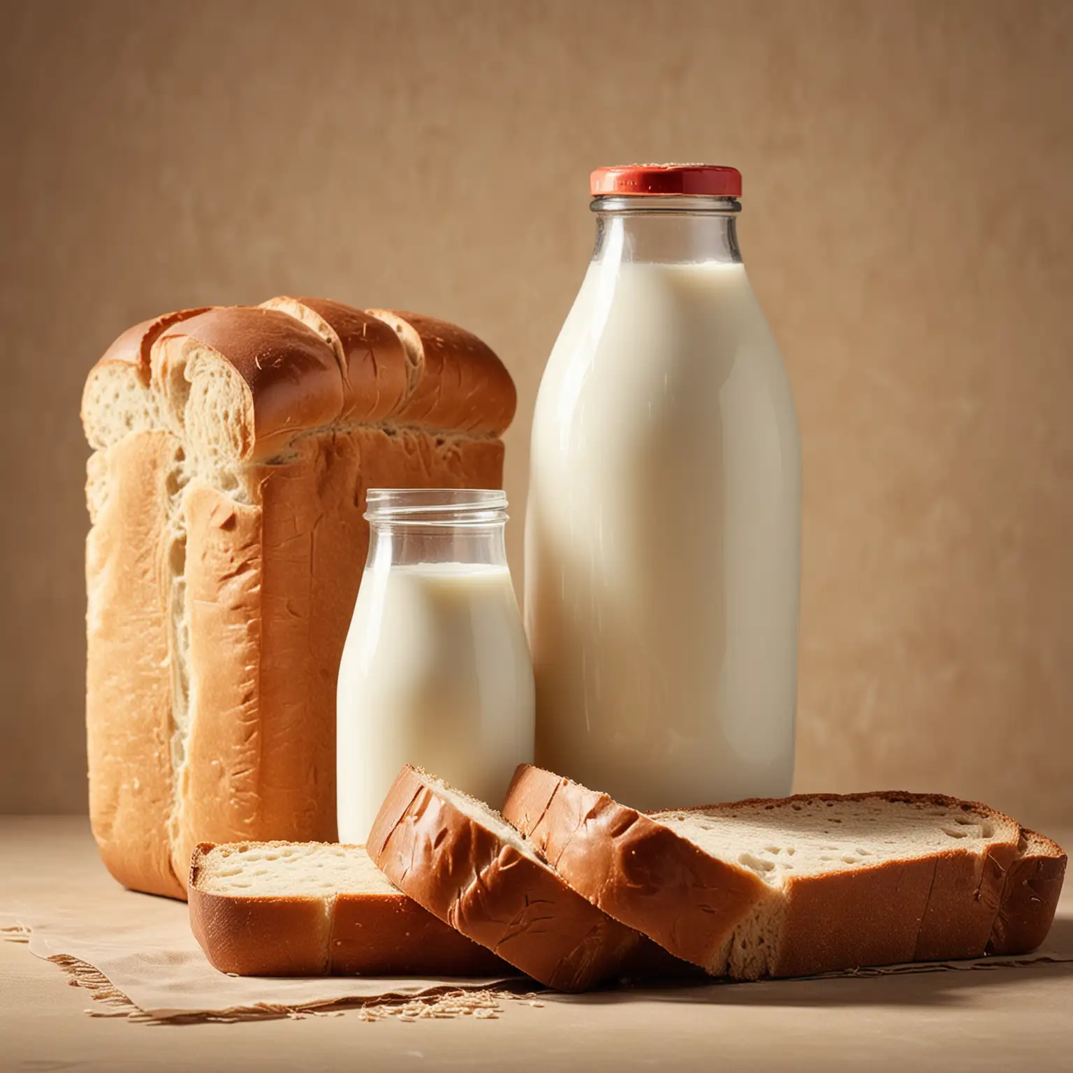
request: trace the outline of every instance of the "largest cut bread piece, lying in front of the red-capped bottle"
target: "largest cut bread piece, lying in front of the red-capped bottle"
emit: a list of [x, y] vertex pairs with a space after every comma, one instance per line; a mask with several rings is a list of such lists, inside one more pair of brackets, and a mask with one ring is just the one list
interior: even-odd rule
[[1018, 824], [938, 795], [800, 795], [646, 815], [523, 765], [503, 815], [594, 905], [737, 979], [978, 957], [1014, 890], [1032, 924], [1012, 924], [1000, 943], [1031, 949], [1064, 868], [1037, 851], [1046, 898], [1026, 905], [1028, 888], [1006, 882], [1025, 859]]

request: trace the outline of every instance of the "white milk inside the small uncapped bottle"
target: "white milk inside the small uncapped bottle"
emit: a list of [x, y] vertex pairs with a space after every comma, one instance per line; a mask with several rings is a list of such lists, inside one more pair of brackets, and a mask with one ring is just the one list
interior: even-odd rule
[[367, 569], [337, 709], [340, 841], [365, 841], [403, 764], [501, 805], [533, 734], [532, 666], [506, 567]]

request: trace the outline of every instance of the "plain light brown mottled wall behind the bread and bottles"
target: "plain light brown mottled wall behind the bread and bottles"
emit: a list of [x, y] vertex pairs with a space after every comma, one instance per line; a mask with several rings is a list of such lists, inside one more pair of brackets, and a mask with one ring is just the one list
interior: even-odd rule
[[799, 788], [1070, 821], [1071, 102], [1059, 0], [4, 4], [0, 811], [85, 808], [77, 409], [121, 328], [288, 292], [471, 327], [520, 392], [519, 572], [587, 174], [686, 159], [745, 174], [800, 414]]

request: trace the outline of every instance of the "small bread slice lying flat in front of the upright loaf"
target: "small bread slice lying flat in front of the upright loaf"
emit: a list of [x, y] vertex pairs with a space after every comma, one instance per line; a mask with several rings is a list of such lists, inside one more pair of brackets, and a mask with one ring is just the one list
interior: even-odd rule
[[509, 976], [489, 951], [394, 887], [363, 846], [203, 842], [190, 926], [240, 976]]

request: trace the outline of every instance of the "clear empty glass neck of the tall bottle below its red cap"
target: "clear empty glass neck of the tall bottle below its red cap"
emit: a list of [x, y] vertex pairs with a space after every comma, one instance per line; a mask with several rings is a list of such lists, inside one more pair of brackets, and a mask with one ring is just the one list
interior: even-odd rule
[[734, 197], [605, 196], [592, 201], [596, 263], [739, 264]]

